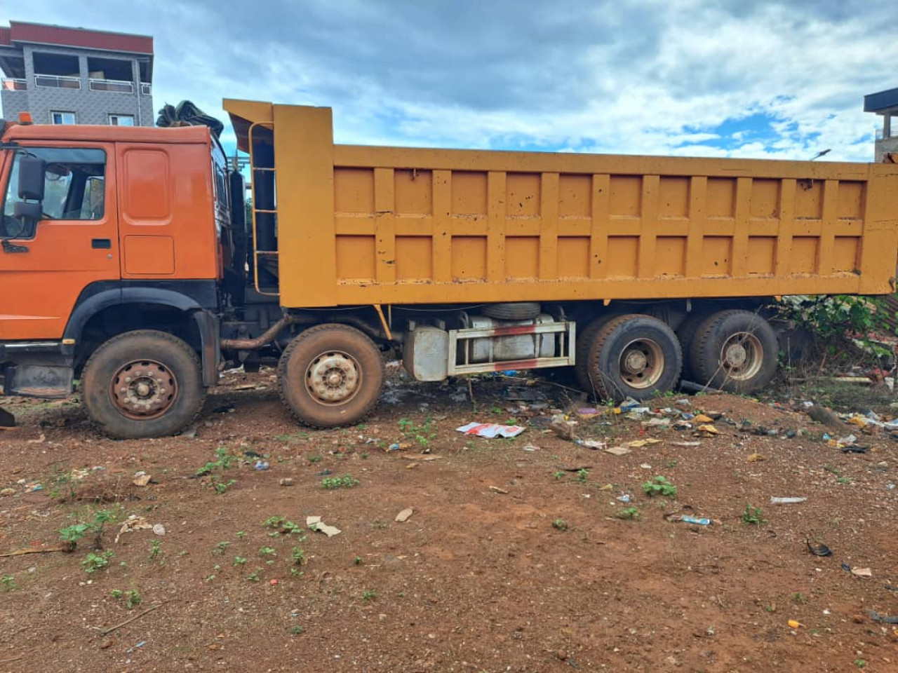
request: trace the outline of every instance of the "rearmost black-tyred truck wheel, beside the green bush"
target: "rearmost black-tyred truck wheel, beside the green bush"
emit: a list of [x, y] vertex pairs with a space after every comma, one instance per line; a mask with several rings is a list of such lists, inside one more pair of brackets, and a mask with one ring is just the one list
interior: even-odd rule
[[762, 389], [777, 371], [779, 345], [770, 323], [750, 310], [710, 315], [696, 330], [690, 360], [696, 382], [729, 392]]

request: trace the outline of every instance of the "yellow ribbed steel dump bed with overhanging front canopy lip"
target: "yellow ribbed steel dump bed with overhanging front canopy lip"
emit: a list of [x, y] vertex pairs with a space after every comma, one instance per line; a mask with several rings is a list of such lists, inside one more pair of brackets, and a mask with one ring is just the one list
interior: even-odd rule
[[[281, 303], [890, 293], [898, 166], [334, 145], [273, 120]], [[244, 129], [243, 132], [241, 129]]]

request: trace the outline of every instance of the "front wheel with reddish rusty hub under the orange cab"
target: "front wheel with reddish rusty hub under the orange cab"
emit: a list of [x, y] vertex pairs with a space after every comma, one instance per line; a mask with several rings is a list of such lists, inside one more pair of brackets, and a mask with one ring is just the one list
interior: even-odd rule
[[84, 364], [81, 391], [93, 423], [123, 440], [183, 430], [206, 397], [197, 354], [154, 329], [126, 332], [97, 348]]

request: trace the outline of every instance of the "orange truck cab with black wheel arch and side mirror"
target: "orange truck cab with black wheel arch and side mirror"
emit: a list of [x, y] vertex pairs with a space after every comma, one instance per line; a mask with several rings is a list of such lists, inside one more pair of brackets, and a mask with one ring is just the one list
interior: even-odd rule
[[[8, 125], [0, 176], [6, 394], [65, 397], [98, 346], [138, 328], [188, 344], [202, 384], [216, 381], [229, 199], [242, 198], [242, 179], [207, 127]], [[145, 369], [165, 378], [161, 363]], [[141, 390], [163, 389], [143, 378]], [[164, 394], [151, 393], [119, 391], [119, 410], [153, 415], [146, 406]]]

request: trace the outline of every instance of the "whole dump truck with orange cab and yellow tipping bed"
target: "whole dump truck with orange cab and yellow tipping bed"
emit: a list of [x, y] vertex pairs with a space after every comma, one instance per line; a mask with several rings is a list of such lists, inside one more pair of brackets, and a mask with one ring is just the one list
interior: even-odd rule
[[[334, 144], [328, 108], [4, 125], [0, 371], [118, 438], [277, 363], [303, 424], [416, 380], [566, 367], [597, 398], [770, 382], [779, 295], [894, 292], [898, 166]], [[243, 172], [251, 177], [251, 198]]]

